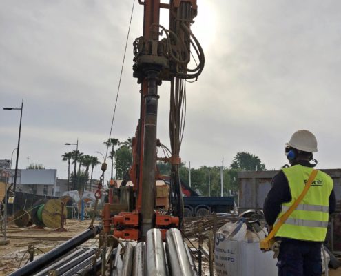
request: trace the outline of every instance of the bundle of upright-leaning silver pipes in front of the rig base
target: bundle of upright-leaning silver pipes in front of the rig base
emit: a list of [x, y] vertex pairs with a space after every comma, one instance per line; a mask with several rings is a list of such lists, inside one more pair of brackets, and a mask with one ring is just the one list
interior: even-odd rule
[[[121, 254], [120, 254], [121, 252]], [[178, 229], [167, 230], [166, 242], [161, 231], [150, 229], [146, 242], [126, 242], [117, 248], [112, 276], [197, 276], [194, 261]]]

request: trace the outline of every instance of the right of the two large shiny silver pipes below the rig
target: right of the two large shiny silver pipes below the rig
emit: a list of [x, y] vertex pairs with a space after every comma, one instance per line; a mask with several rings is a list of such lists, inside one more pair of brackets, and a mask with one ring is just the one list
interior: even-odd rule
[[[166, 233], [167, 256], [172, 276], [192, 276], [193, 270], [187, 256], [180, 230], [171, 228]], [[172, 256], [172, 257], [171, 257]]]

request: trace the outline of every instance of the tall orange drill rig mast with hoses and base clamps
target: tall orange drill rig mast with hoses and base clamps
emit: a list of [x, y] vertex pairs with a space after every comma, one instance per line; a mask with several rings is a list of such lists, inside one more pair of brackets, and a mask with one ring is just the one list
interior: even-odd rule
[[[196, 79], [203, 70], [205, 58], [200, 44], [190, 30], [196, 17], [196, 0], [138, 0], [144, 6], [143, 36], [134, 42], [134, 77], [141, 83], [141, 112], [136, 136], [132, 141], [133, 163], [130, 180], [134, 184], [136, 204], [132, 213], [114, 217], [114, 235], [126, 239], [145, 240], [147, 230], [178, 227], [183, 215], [182, 194], [178, 167], [180, 144], [183, 136], [185, 112], [185, 80]], [[169, 30], [159, 24], [160, 9], [169, 10]], [[163, 39], [159, 37], [164, 35]], [[196, 68], [189, 69], [192, 46], [198, 58]], [[158, 86], [171, 82], [169, 112], [170, 157], [162, 158], [172, 165], [170, 181], [170, 208], [167, 214], [155, 212], [158, 159], [157, 137]]]

